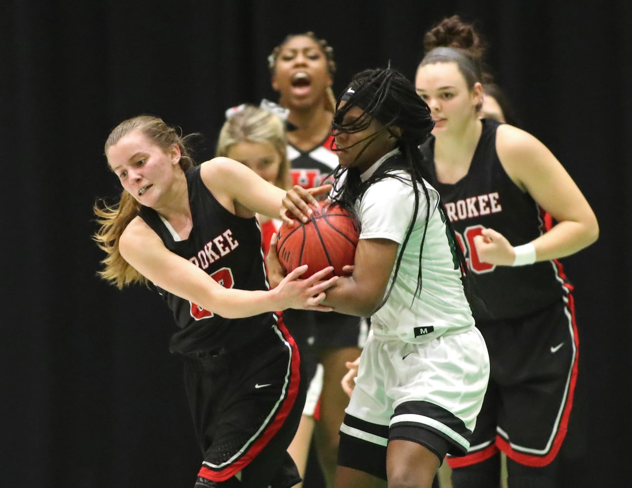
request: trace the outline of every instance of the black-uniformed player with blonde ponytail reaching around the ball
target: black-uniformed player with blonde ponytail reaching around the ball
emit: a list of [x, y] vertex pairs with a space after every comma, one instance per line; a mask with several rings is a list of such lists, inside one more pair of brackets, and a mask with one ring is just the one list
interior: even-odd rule
[[289, 488], [300, 481], [286, 452], [305, 401], [296, 344], [275, 313], [320, 305], [332, 270], [269, 290], [255, 212], [277, 216], [285, 192], [243, 164], [194, 166], [184, 138], [139, 116], [107, 138], [107, 161], [123, 186], [114, 206], [95, 205], [100, 272], [119, 288], [152, 283], [179, 330], [204, 462], [196, 487]]

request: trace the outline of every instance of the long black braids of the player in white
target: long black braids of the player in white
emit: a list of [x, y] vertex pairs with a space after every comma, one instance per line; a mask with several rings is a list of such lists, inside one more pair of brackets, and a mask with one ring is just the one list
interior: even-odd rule
[[[341, 101], [346, 101], [342, 107]], [[349, 123], [343, 123], [344, 115], [354, 106], [360, 107], [364, 113]], [[391, 158], [389, 161], [384, 162], [366, 181], [362, 181], [360, 178], [360, 170], [358, 168], [347, 169], [338, 166], [333, 172], [336, 178], [333, 194], [335, 195], [334, 199], [341, 205], [347, 208], [353, 208], [356, 200], [362, 198], [368, 188], [375, 182], [384, 180], [384, 178], [398, 178], [405, 183], [409, 183], [408, 178], [403, 178], [401, 173], [398, 174], [397, 171], [403, 170], [410, 174], [410, 182], [412, 183], [413, 193], [415, 195], [413, 217], [411, 223], [408, 225], [406, 235], [404, 236], [403, 243], [399, 250], [391, 286], [380, 304], [380, 307], [382, 307], [391, 294], [398, 276], [404, 248], [413, 233], [413, 227], [419, 211], [419, 202], [423, 192], [423, 197], [426, 199], [425, 226], [423, 228], [419, 253], [417, 287], [415, 295], [413, 295], [413, 300], [415, 296], [420, 295], [422, 289], [423, 244], [425, 242], [428, 220], [430, 219], [430, 195], [428, 194], [428, 189], [423, 183], [423, 180], [429, 181], [430, 174], [428, 173], [428, 169], [422, 164], [423, 156], [419, 150], [419, 146], [426, 140], [428, 135], [430, 135], [430, 131], [432, 131], [434, 127], [434, 121], [432, 121], [430, 109], [426, 102], [416, 94], [413, 84], [399, 71], [390, 67], [364, 70], [353, 77], [351, 83], [349, 83], [346, 90], [344, 90], [343, 94], [337, 100], [336, 114], [332, 123], [332, 133], [355, 133], [362, 131], [368, 127], [373, 118], [381, 123], [382, 128], [380, 128], [380, 132], [389, 131], [391, 135], [397, 138], [398, 149], [401, 151], [402, 157]], [[368, 145], [370, 145], [376, 135], [377, 134], [370, 135], [358, 142], [368, 142], [362, 150], [365, 150]], [[332, 150], [336, 150], [336, 147], [332, 146]], [[340, 178], [343, 173], [346, 173], [344, 178]], [[439, 209], [442, 212], [443, 220], [451, 235], [450, 244], [456, 255], [454, 267], [455, 269], [461, 270], [461, 276], [463, 277], [466, 273], [465, 257], [457, 243], [458, 241], [454, 235], [454, 229], [446, 217], [446, 212], [441, 201], [439, 202]]]

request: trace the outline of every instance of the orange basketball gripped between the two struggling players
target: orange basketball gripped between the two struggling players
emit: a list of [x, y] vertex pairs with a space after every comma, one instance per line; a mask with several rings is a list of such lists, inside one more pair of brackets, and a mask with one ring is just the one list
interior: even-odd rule
[[308, 265], [301, 278], [327, 266], [334, 275], [343, 275], [343, 266], [353, 264], [360, 236], [360, 223], [349, 210], [332, 202], [320, 202], [312, 218], [294, 227], [286, 223], [279, 228], [277, 253], [286, 272]]

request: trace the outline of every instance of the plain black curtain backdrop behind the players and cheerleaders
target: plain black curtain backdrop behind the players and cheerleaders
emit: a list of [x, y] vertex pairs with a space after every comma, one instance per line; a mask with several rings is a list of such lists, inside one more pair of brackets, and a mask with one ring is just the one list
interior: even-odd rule
[[[200, 462], [159, 296], [95, 276], [92, 204], [115, 197], [102, 147], [151, 113], [214, 151], [224, 110], [276, 101], [266, 57], [313, 30], [335, 91], [389, 61], [414, 78], [422, 35], [475, 21], [523, 128], [593, 205], [599, 241], [562, 260], [576, 286], [586, 487], [627, 472], [632, 293], [632, 3], [6, 0], [0, 13], [0, 485], [188, 487]], [[618, 230], [617, 230], [618, 226]], [[511, 290], [507, 290], [511, 293]], [[629, 483], [629, 477], [627, 478]]]

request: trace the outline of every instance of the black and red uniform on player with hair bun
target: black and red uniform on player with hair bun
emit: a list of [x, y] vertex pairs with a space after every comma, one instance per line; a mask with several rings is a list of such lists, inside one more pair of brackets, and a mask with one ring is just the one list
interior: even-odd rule
[[573, 406], [579, 354], [573, 286], [557, 260], [511, 267], [478, 259], [474, 237], [482, 229], [514, 246], [547, 229], [544, 210], [502, 167], [495, 145], [500, 124], [483, 119], [482, 125], [468, 173], [453, 185], [437, 180], [434, 137], [421, 147], [468, 259], [472, 312], [491, 365], [468, 455], [448, 462], [471, 466], [501, 449], [521, 465], [544, 467], [559, 452]]

